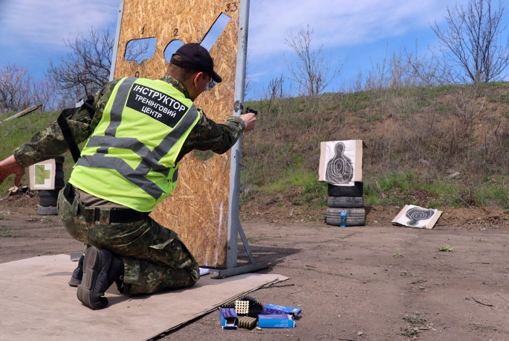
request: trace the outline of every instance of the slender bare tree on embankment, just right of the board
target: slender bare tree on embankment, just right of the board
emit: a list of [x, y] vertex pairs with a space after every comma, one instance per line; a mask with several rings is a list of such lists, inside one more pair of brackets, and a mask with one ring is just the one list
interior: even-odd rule
[[301, 28], [296, 36], [290, 33], [285, 44], [290, 46], [297, 55], [294, 66], [287, 60], [291, 78], [297, 82], [300, 91], [306, 91], [308, 96], [320, 94], [341, 73], [342, 65], [331, 68], [331, 61], [324, 56], [323, 44], [318, 49], [312, 49], [313, 30]]

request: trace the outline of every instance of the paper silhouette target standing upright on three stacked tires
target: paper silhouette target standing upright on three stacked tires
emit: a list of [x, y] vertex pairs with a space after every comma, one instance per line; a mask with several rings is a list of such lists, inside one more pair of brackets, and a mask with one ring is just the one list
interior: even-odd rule
[[318, 181], [354, 186], [362, 181], [362, 140], [320, 142]]

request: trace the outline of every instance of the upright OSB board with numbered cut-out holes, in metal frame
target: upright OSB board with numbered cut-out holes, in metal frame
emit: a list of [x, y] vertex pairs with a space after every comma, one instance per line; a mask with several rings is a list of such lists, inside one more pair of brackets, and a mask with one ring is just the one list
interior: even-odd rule
[[[214, 69], [222, 82], [203, 93], [196, 107], [209, 118], [223, 122], [233, 114], [240, 1], [221, 0], [125, 0], [118, 45], [115, 78], [158, 78], [167, 69], [164, 49], [169, 42], [201, 42], [217, 17], [231, 17], [210, 49]], [[126, 61], [130, 40], [155, 37], [152, 59]], [[204, 158], [202, 158], [204, 159]], [[180, 163], [179, 183], [173, 195], [158, 205], [151, 216], [175, 230], [200, 265], [225, 267], [230, 194], [230, 152], [201, 161], [194, 152]]]

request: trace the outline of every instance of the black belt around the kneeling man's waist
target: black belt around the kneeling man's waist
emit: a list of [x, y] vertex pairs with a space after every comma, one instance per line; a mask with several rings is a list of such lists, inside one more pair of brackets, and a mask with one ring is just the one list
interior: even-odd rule
[[[67, 183], [63, 194], [72, 205], [75, 194], [70, 183]], [[86, 207], [78, 202], [78, 214], [85, 217], [88, 222], [98, 221], [102, 225], [109, 225], [110, 223], [132, 223], [143, 220], [149, 215], [149, 212], [139, 212], [131, 208]]]

